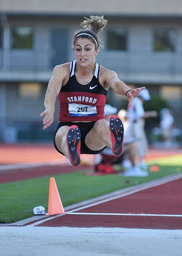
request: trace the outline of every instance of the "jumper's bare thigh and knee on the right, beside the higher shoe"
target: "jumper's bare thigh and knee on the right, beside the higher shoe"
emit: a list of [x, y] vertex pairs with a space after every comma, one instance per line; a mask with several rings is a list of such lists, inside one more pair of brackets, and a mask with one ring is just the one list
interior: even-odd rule
[[105, 140], [110, 141], [109, 123], [105, 119], [100, 119], [86, 135], [85, 144], [91, 150], [100, 150], [107, 146]]

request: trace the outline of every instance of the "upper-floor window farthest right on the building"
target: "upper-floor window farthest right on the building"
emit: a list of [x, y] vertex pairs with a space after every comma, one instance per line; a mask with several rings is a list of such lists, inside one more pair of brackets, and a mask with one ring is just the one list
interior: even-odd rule
[[154, 50], [173, 52], [176, 50], [176, 31], [158, 29], [154, 31]]

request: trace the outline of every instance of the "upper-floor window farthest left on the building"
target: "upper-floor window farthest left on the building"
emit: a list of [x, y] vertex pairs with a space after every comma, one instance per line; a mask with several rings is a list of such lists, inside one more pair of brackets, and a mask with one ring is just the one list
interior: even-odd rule
[[17, 26], [12, 28], [11, 47], [13, 49], [32, 49], [33, 28]]

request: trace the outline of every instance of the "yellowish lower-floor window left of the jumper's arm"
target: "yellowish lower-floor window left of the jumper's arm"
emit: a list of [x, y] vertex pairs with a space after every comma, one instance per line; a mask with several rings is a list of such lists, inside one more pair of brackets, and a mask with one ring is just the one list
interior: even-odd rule
[[21, 83], [18, 85], [18, 96], [21, 98], [39, 98], [42, 85], [39, 83]]

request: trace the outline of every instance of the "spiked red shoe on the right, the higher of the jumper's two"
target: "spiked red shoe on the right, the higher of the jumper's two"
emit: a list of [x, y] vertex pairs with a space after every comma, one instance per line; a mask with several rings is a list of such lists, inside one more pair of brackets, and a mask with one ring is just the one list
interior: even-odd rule
[[114, 156], [120, 156], [123, 153], [123, 134], [124, 128], [121, 119], [112, 115], [109, 123], [111, 133], [111, 148]]

